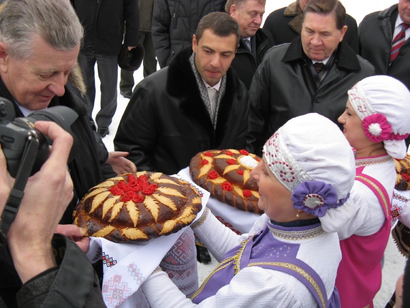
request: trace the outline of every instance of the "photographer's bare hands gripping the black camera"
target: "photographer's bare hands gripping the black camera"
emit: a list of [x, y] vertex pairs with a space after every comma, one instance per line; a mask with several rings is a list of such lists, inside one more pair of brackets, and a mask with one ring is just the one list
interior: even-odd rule
[[[67, 160], [73, 139], [53, 122], [36, 122], [35, 128], [53, 141], [50, 156], [31, 176], [25, 195], [7, 235], [15, 268], [23, 283], [56, 266], [51, 239], [58, 221], [73, 198], [73, 183]], [[13, 179], [0, 151], [0, 214], [3, 212]]]

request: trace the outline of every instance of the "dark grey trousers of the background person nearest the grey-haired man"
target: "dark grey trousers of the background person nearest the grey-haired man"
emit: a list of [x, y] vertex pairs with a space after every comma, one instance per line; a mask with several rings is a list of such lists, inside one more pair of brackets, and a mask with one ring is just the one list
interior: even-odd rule
[[81, 50], [78, 62], [83, 71], [84, 81], [87, 86], [87, 94], [90, 98], [87, 110], [91, 115], [95, 101], [95, 76], [94, 66], [97, 63], [98, 78], [101, 82], [101, 101], [95, 122], [98, 127], [108, 127], [117, 109], [117, 81], [118, 60], [116, 55], [95, 54], [92, 50]]

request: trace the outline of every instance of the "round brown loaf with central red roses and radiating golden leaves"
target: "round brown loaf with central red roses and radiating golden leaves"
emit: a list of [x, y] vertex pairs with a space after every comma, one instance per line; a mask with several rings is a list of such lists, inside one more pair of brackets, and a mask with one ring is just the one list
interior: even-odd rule
[[177, 232], [201, 207], [198, 191], [187, 181], [142, 171], [94, 186], [73, 216], [88, 236], [138, 243]]

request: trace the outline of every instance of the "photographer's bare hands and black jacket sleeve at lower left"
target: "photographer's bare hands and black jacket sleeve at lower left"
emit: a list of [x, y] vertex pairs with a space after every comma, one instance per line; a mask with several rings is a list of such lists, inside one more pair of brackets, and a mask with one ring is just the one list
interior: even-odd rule
[[[34, 127], [53, 140], [53, 146], [48, 160], [27, 182], [7, 238], [0, 233], [2, 284], [23, 283], [16, 302], [15, 292], [8, 296], [2, 292], [0, 307], [105, 307], [98, 277], [87, 257], [74, 242], [54, 235], [73, 197], [73, 182], [63, 163], [67, 162], [73, 139], [52, 122], [36, 122]], [[12, 183], [0, 150], [0, 215]]]

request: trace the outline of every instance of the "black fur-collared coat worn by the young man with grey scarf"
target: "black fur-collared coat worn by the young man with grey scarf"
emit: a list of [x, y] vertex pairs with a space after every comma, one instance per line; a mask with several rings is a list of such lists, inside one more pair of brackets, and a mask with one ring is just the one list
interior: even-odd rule
[[214, 129], [189, 63], [191, 54], [191, 48], [182, 50], [169, 67], [142, 80], [122, 115], [114, 148], [130, 152], [127, 158], [138, 170], [173, 175], [200, 151], [245, 146], [247, 89], [229, 69]]

